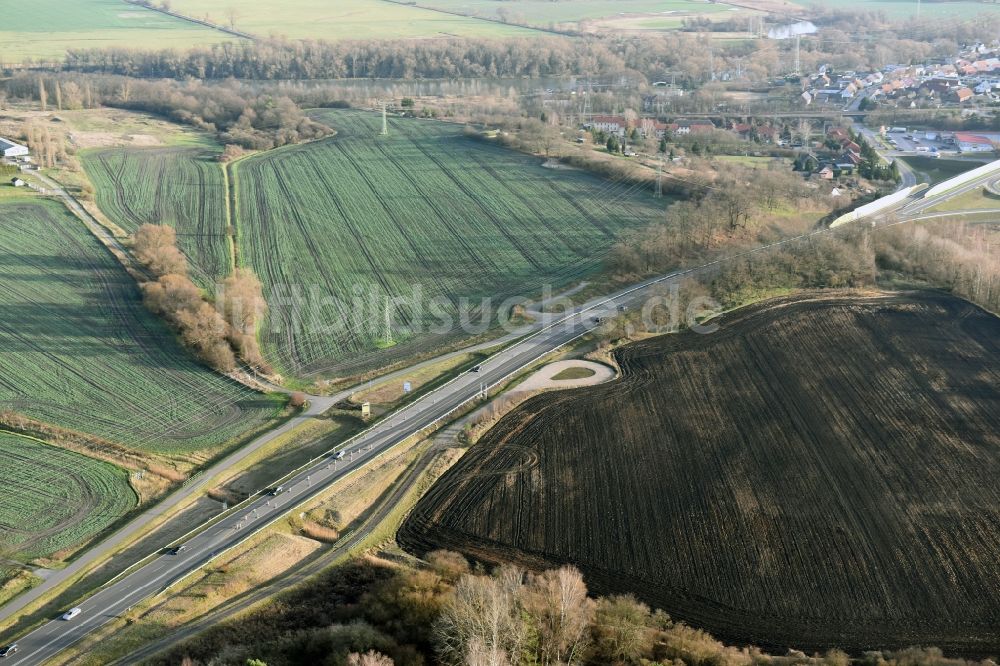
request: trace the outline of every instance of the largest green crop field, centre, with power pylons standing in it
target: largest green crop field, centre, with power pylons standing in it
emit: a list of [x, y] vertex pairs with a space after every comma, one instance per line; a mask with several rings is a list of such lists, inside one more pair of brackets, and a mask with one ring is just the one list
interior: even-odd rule
[[[382, 137], [378, 114], [316, 117], [338, 135], [243, 160], [235, 179], [239, 256], [265, 285], [262, 342], [285, 372], [385, 365], [439, 345], [448, 336], [427, 332], [440, 321], [431, 299], [454, 315], [465, 297], [498, 304], [565, 285], [662, 215], [634, 184], [544, 168], [457, 125], [393, 118]], [[387, 299], [413, 296], [423, 312], [390, 305], [387, 335]]]

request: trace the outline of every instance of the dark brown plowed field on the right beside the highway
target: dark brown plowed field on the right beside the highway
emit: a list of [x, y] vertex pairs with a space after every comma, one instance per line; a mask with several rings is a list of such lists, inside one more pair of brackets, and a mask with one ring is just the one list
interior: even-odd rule
[[734, 643], [1000, 652], [1000, 319], [779, 299], [504, 418], [400, 541], [570, 562]]

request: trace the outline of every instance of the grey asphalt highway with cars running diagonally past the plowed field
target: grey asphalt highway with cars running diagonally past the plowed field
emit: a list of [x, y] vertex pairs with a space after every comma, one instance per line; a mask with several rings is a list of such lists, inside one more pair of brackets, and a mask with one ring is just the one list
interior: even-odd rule
[[[918, 199], [906, 203], [896, 210], [896, 215], [904, 219], [916, 217], [941, 201], [980, 187], [992, 178], [995, 176], [977, 179], [928, 200]], [[826, 229], [815, 230], [736, 256], [766, 252], [827, 232]], [[546, 328], [491, 356], [478, 366], [478, 372], [468, 372], [459, 376], [394, 413], [391, 418], [363, 432], [351, 440], [347, 448], [342, 449], [344, 452], [342, 459], [337, 460], [331, 456], [318, 461], [284, 482], [284, 491], [280, 494], [257, 497], [243, 505], [240, 511], [220, 519], [219, 522], [192, 537], [184, 544], [186, 547], [183, 552], [177, 555], [161, 555], [88, 597], [79, 604], [82, 612], [73, 620], [54, 619], [19, 639], [18, 653], [5, 660], [5, 666], [44, 663], [82, 640], [87, 634], [126, 613], [143, 599], [165, 590], [173, 582], [207, 564], [217, 554], [287, 515], [294, 507], [323, 492], [337, 479], [365, 465], [410, 435], [441, 421], [461, 405], [475, 399], [482, 392], [483, 386], [494, 386], [502, 382], [536, 359], [597, 328], [601, 325], [597, 321], [598, 318], [613, 316], [620, 306], [639, 306], [647, 296], [651, 295], [650, 290], [658, 284], [710, 270], [733, 258], [735, 257], [726, 257], [703, 266], [647, 280], [610, 298], [592, 301], [567, 316], [557, 318]]]

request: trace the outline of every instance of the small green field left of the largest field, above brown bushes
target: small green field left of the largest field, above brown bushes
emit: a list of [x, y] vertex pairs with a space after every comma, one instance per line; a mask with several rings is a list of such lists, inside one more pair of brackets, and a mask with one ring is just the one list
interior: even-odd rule
[[134, 232], [169, 224], [203, 287], [230, 272], [226, 183], [215, 154], [198, 148], [109, 148], [83, 154], [97, 205]]

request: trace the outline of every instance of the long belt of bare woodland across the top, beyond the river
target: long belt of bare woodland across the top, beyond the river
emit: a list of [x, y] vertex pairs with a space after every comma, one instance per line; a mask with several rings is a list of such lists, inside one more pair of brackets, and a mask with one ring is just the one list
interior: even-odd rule
[[[900, 22], [884, 14], [814, 8], [817, 37], [802, 40], [805, 71], [922, 63], [955, 55], [960, 44], [991, 40], [1000, 17], [976, 21]], [[714, 24], [713, 24], [714, 26]], [[791, 72], [793, 40], [713, 42], [710, 32], [655, 36], [604, 33], [574, 39], [532, 37], [444, 40], [287, 40], [227, 42], [179, 50], [70, 50], [76, 72], [139, 78], [244, 80], [538, 78], [638, 74], [689, 89], [725, 74], [764, 81]]]

